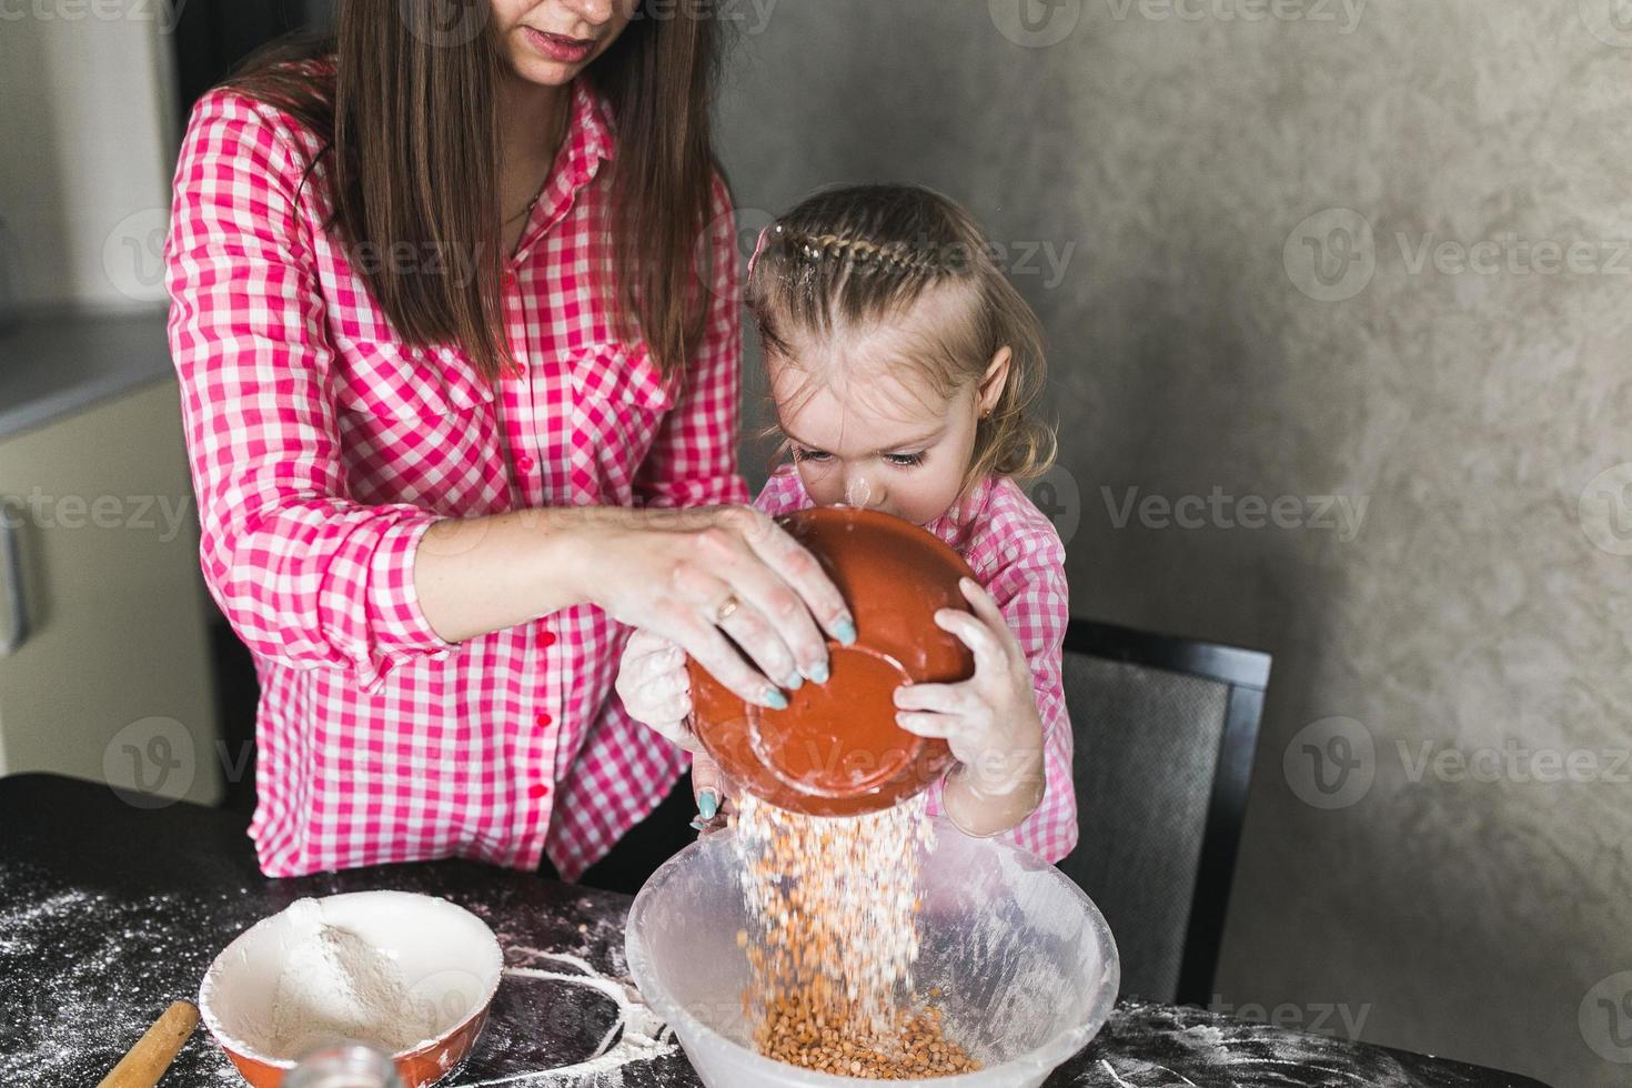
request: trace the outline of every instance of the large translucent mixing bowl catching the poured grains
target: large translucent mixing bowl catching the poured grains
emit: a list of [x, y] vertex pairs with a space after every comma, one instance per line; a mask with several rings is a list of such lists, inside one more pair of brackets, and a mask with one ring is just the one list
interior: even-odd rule
[[[947, 1034], [986, 1068], [912, 1081], [1035, 1088], [1105, 1026], [1120, 967], [1105, 918], [1036, 855], [969, 838], [943, 817], [924, 858], [922, 951], [914, 990], [940, 987]], [[625, 953], [645, 1000], [710, 1088], [855, 1085], [761, 1057], [741, 1006], [747, 928], [731, 832], [659, 868], [628, 915]]]

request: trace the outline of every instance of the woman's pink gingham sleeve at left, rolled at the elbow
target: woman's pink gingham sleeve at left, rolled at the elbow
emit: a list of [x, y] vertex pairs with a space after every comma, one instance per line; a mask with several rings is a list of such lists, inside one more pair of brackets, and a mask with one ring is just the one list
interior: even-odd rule
[[369, 690], [393, 662], [450, 649], [413, 582], [439, 517], [348, 494], [335, 356], [299, 214], [305, 161], [274, 116], [212, 91], [176, 168], [165, 279], [199, 556], [251, 651], [349, 669]]

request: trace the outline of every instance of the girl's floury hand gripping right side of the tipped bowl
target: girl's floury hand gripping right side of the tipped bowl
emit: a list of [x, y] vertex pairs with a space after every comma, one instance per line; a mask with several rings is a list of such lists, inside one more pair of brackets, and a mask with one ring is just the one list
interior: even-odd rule
[[896, 721], [920, 737], [943, 737], [961, 763], [948, 773], [948, 789], [956, 783], [976, 801], [1017, 811], [1007, 824], [1012, 827], [1036, 807], [1043, 791], [1043, 719], [1031, 667], [992, 595], [968, 577], [958, 587], [974, 615], [942, 608], [935, 625], [969, 648], [974, 675], [960, 683], [898, 687]]

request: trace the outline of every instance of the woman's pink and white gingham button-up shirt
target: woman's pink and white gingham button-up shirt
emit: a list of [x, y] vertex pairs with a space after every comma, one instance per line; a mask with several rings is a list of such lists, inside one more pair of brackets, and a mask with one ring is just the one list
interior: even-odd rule
[[263, 688], [261, 869], [548, 853], [576, 879], [689, 765], [612, 693], [627, 628], [578, 607], [449, 644], [415, 548], [447, 517], [747, 501], [730, 194], [716, 183], [715, 302], [681, 387], [597, 302], [614, 129], [574, 85], [504, 277], [526, 374], [494, 390], [460, 349], [392, 333], [320, 227], [322, 161], [300, 184], [318, 147], [287, 114], [204, 96], [165, 246], [204, 577]]

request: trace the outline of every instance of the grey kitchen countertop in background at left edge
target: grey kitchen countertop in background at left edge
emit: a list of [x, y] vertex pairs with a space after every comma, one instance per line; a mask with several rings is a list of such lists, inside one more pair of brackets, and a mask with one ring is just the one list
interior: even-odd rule
[[173, 374], [163, 310], [24, 316], [0, 333], [0, 439]]

